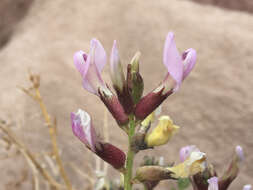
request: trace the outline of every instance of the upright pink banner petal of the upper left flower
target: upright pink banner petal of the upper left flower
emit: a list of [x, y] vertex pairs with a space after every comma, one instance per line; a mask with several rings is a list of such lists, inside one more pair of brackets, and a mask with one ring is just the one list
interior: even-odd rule
[[97, 39], [92, 39], [90, 42], [90, 55], [91, 64], [95, 64], [99, 73], [102, 72], [103, 67], [106, 64], [106, 52], [102, 44]]

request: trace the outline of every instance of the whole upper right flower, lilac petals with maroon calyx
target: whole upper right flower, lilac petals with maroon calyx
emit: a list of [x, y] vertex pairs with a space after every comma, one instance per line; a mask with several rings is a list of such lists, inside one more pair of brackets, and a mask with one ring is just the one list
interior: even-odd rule
[[143, 120], [152, 113], [170, 94], [177, 91], [196, 63], [196, 51], [192, 48], [183, 52], [177, 50], [174, 34], [169, 32], [163, 51], [163, 64], [168, 70], [165, 79], [136, 105], [135, 115]]

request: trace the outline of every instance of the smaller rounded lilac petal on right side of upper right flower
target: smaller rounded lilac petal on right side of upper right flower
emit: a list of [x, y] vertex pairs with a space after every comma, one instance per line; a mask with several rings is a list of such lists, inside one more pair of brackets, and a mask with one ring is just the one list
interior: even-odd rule
[[183, 55], [183, 65], [184, 65], [184, 72], [183, 72], [183, 80], [189, 75], [193, 67], [195, 66], [197, 53], [196, 50], [190, 48], [186, 50]]

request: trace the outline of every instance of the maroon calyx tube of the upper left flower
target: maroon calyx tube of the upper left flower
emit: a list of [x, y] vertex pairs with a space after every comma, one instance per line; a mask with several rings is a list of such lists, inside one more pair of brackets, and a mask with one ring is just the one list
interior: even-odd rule
[[107, 87], [99, 88], [98, 93], [100, 99], [104, 102], [107, 109], [111, 112], [114, 119], [119, 126], [124, 126], [128, 123], [128, 116], [126, 115], [122, 105], [118, 98]]

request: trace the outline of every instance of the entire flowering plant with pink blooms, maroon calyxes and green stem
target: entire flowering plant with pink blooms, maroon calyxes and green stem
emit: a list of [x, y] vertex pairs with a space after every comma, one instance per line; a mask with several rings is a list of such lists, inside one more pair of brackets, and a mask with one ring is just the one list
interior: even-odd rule
[[[163, 101], [179, 90], [184, 79], [196, 63], [196, 51], [188, 49], [182, 54], [177, 50], [173, 33], [168, 33], [163, 51], [163, 64], [167, 74], [147, 95], [142, 96], [144, 82], [139, 72], [140, 53], [137, 52], [127, 65], [124, 75], [116, 41], [110, 55], [110, 76], [112, 88], [102, 79], [102, 69], [107, 56], [102, 44], [92, 39], [89, 53], [76, 52], [74, 64], [82, 76], [83, 88], [98, 96], [108, 108], [119, 127], [128, 136], [128, 152], [104, 142], [96, 133], [90, 115], [79, 109], [71, 113], [72, 129], [84, 145], [109, 163], [124, 176], [124, 189], [130, 190], [135, 183], [142, 183], [145, 189], [153, 189], [161, 180], [189, 179], [194, 190], [226, 190], [239, 172], [243, 160], [240, 146], [223, 175], [217, 177], [215, 168], [207, 161], [206, 154], [196, 146], [180, 150], [181, 163], [165, 166], [161, 164], [142, 165], [132, 174], [135, 155], [142, 150], [166, 144], [179, 127], [169, 116], [161, 116], [158, 125], [150, 131], [157, 110]], [[245, 186], [250, 189], [250, 185]]]

